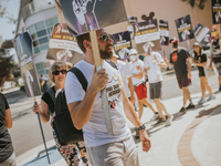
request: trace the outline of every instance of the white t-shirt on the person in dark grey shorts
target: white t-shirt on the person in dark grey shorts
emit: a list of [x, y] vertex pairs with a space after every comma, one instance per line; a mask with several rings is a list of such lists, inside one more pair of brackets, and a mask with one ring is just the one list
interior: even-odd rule
[[[158, 52], [152, 52], [152, 55], [155, 60], [157, 61], [157, 63], [164, 62], [164, 59]], [[160, 66], [154, 63], [150, 55], [145, 58], [144, 68], [147, 69], [147, 76], [148, 76], [149, 83], [156, 83], [156, 82], [162, 81]]]

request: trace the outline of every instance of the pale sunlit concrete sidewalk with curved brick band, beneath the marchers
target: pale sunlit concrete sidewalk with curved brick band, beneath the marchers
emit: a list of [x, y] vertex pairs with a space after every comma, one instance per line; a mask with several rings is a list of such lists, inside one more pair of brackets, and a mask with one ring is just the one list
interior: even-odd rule
[[[135, 139], [140, 166], [220, 165], [221, 93], [215, 94], [215, 100], [197, 105], [200, 96], [200, 93], [192, 94], [196, 108], [188, 111], [185, 115], [178, 113], [182, 106], [181, 96], [164, 101], [168, 112], [175, 116], [169, 127], [155, 126], [156, 122], [150, 123], [152, 112], [145, 108], [141, 122], [150, 136], [151, 149], [144, 153], [140, 141]], [[135, 135], [134, 125], [128, 122], [128, 126]], [[50, 141], [46, 144], [50, 148], [51, 165], [65, 166], [54, 142]], [[18, 156], [17, 162], [19, 166], [49, 165], [43, 145]]]

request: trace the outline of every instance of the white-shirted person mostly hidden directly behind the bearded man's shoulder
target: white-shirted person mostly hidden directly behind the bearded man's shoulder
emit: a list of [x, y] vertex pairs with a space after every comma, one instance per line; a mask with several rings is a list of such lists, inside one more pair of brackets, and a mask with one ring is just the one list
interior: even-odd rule
[[112, 61], [117, 65], [119, 72], [120, 72], [122, 83], [123, 83], [126, 96], [134, 104], [135, 103], [135, 94], [134, 94], [134, 85], [131, 82], [133, 74], [131, 74], [129, 64], [126, 62], [123, 62], [120, 60], [117, 60], [119, 56], [113, 50]]

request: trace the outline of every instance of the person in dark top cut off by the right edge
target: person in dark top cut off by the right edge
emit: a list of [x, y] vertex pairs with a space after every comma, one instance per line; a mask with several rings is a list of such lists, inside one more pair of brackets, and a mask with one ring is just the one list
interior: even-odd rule
[[212, 25], [211, 28], [211, 56], [210, 56], [210, 68], [212, 69], [212, 62], [214, 62], [214, 65], [219, 73], [219, 91], [221, 91], [221, 52], [220, 52], [220, 44], [219, 41], [219, 27], [217, 24]]

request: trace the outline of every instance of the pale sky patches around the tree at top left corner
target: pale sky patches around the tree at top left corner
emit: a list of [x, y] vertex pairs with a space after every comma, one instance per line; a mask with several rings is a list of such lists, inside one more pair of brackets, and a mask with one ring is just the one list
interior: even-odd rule
[[[10, 15], [13, 15], [15, 20], [18, 19], [20, 0], [0, 0], [0, 3], [1, 6], [7, 7], [7, 12], [10, 13]], [[15, 34], [12, 32], [15, 31], [15, 29], [17, 23], [10, 23], [9, 19], [0, 18], [0, 35], [2, 37], [2, 41], [13, 39]], [[14, 55], [13, 59], [18, 63], [14, 49], [11, 49], [10, 54]]]

